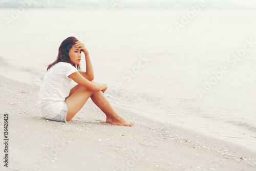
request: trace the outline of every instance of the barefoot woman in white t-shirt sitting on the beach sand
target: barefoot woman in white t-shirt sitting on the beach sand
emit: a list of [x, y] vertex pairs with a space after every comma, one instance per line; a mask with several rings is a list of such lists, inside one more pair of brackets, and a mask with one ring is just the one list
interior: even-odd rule
[[[86, 56], [86, 72], [80, 70], [81, 52]], [[71, 79], [78, 83], [71, 89]], [[120, 117], [105, 98], [105, 83], [94, 82], [93, 66], [89, 52], [75, 37], [63, 40], [57, 59], [47, 68], [38, 94], [42, 115], [53, 121], [69, 122], [91, 97], [106, 115], [106, 122], [133, 126]]]

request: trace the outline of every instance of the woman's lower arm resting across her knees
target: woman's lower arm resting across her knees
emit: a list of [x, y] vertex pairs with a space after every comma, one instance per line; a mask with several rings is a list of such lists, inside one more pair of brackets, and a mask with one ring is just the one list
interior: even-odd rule
[[74, 72], [69, 75], [76, 83], [80, 84], [82, 87], [87, 88], [91, 91], [101, 91], [107, 89], [108, 86], [105, 83], [91, 82], [84, 78], [79, 72]]

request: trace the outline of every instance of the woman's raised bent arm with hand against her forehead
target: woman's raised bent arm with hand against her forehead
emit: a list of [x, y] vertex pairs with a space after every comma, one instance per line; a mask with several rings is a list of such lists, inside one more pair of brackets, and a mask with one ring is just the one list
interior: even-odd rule
[[94, 79], [94, 71], [93, 71], [93, 65], [92, 65], [88, 50], [86, 49], [84, 44], [82, 44], [80, 41], [76, 41], [75, 47], [78, 47], [78, 49], [80, 49], [86, 56], [86, 72], [79, 71], [79, 73], [84, 78], [86, 78], [90, 81], [93, 80]]

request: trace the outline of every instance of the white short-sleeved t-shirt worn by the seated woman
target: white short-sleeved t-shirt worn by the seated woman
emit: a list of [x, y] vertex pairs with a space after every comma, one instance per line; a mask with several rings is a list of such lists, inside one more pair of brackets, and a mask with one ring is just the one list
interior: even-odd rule
[[68, 76], [78, 70], [67, 62], [58, 62], [51, 67], [42, 80], [38, 94], [38, 106], [46, 119], [56, 117], [69, 96], [72, 79]]

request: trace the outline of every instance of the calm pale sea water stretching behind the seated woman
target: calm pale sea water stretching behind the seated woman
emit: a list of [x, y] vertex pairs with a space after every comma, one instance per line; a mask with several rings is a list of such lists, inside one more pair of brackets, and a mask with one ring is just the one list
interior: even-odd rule
[[1, 9], [0, 72], [40, 86], [76, 36], [112, 103], [256, 150], [256, 11], [188, 12]]

